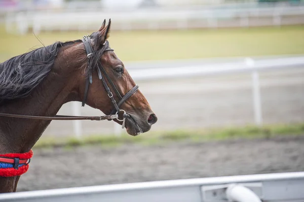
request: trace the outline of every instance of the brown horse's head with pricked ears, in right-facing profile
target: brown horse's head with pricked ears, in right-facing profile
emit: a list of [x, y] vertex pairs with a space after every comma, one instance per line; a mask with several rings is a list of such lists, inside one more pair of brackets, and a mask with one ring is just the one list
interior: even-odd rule
[[[125, 127], [130, 135], [144, 133], [157, 122], [146, 98], [128, 73], [124, 63], [110, 48], [108, 38], [111, 21], [105, 21], [97, 32], [84, 37], [82, 49], [87, 57], [80, 76], [79, 94], [84, 104], [104, 114], [125, 111]], [[123, 124], [122, 120], [115, 120]]]

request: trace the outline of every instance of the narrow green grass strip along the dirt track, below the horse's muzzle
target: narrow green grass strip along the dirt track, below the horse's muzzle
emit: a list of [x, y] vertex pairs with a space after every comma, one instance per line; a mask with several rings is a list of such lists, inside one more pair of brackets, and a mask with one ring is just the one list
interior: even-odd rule
[[42, 137], [34, 145], [34, 148], [46, 147], [73, 147], [84, 145], [101, 145], [104, 147], [119, 146], [123, 144], [164, 144], [176, 141], [214, 141], [238, 138], [270, 138], [277, 135], [304, 135], [304, 123], [286, 124], [286, 125], [269, 125], [263, 127], [246, 126], [230, 127], [221, 129], [206, 130], [176, 130], [166, 132], [149, 132], [137, 137], [124, 134], [121, 137], [114, 135], [93, 135], [77, 138], [44, 138]]

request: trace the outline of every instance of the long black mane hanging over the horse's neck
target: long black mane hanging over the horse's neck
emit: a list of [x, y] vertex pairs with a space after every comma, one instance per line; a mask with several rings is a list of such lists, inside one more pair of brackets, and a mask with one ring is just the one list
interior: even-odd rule
[[0, 63], [0, 103], [26, 97], [52, 69], [60, 47], [81, 40], [55, 42]]

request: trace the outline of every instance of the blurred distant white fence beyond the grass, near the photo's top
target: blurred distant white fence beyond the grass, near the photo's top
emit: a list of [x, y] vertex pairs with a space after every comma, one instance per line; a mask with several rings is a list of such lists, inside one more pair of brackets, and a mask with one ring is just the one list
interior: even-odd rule
[[[242, 4], [240, 4], [242, 5]], [[7, 32], [96, 30], [111, 18], [112, 30], [255, 27], [304, 24], [304, 6], [202, 7], [136, 9], [126, 11], [28, 11], [8, 13]], [[64, 19], [64, 20], [62, 20]]]

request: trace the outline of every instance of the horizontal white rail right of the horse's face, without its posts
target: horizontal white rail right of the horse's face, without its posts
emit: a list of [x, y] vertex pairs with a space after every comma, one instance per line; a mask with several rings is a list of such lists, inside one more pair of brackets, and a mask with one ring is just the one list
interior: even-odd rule
[[[148, 64], [144, 67], [144, 63], [134, 64], [134, 66], [128, 66], [128, 72], [135, 81], [139, 80], [155, 80], [155, 79], [168, 79], [168, 78], [181, 78], [181, 77], [193, 77], [193, 76], [209, 76], [209, 75], [223, 75], [234, 74], [240, 72], [252, 72], [263, 70], [275, 70], [290, 67], [304, 67], [304, 56], [283, 57], [283, 58], [271, 58], [271, 59], [221, 59], [222, 62], [206, 62], [200, 64], [200, 61], [195, 64], [186, 64], [187, 61], [164, 61], [167, 66], [157, 65], [162, 62], [154, 64]], [[152, 63], [152, 62], [150, 62]], [[183, 63], [184, 65], [178, 65]], [[132, 65], [132, 64], [130, 64]], [[136, 66], [135, 66], [136, 65]], [[138, 68], [138, 66], [141, 66]]]

